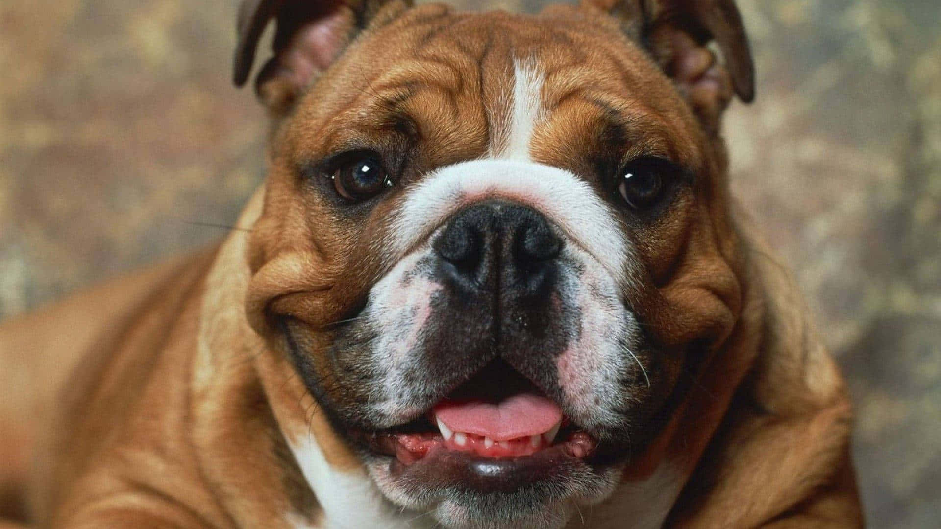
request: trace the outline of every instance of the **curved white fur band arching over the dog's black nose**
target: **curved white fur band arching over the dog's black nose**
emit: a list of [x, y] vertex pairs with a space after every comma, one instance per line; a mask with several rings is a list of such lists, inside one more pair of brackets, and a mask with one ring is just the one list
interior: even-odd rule
[[409, 190], [391, 220], [392, 259], [401, 259], [461, 208], [488, 199], [532, 207], [597, 259], [619, 284], [630, 280], [630, 243], [612, 208], [591, 185], [565, 169], [514, 160], [474, 160], [440, 168]]

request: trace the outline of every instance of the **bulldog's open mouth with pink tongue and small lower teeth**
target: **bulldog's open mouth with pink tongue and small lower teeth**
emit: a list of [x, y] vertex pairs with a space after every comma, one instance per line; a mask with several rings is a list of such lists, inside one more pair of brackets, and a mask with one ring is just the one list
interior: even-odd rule
[[583, 460], [598, 447], [556, 402], [499, 361], [449, 393], [421, 419], [365, 437], [373, 452], [394, 456], [402, 467], [440, 460], [452, 466], [484, 464], [490, 473]]

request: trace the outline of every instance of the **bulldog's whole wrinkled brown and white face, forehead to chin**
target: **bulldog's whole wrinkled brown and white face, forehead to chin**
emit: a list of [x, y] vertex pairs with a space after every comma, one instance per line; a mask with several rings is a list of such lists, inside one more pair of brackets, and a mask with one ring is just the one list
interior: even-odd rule
[[561, 526], [738, 318], [715, 130], [742, 67], [641, 8], [365, 4], [281, 21], [249, 319], [396, 505]]

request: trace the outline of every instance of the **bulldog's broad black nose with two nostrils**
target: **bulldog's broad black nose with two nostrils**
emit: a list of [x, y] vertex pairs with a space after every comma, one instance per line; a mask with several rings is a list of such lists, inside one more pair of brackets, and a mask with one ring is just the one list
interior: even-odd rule
[[459, 286], [518, 294], [545, 290], [562, 249], [545, 216], [505, 201], [482, 202], [461, 211], [434, 244]]

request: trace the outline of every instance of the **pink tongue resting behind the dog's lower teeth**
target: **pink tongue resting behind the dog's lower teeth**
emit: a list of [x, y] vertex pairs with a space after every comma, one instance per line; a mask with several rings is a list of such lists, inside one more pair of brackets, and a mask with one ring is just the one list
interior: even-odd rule
[[442, 402], [435, 416], [454, 431], [509, 441], [548, 432], [562, 420], [562, 409], [544, 396], [519, 393], [497, 404]]

